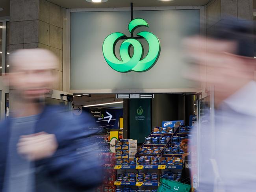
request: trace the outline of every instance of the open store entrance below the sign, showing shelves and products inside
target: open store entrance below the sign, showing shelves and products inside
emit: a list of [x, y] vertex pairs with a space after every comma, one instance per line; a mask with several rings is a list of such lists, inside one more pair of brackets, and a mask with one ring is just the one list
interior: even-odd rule
[[[196, 98], [195, 93], [134, 99], [117, 99], [114, 94], [76, 94], [74, 114], [91, 115], [98, 130], [94, 137], [106, 142], [102, 152], [112, 154], [108, 163], [113, 172], [104, 177], [102, 190], [156, 192], [160, 179], [191, 185], [189, 175], [183, 178], [182, 168], [184, 163], [191, 166], [186, 157], [190, 151], [184, 146], [196, 122]], [[81, 114], [77, 109], [82, 110]]]

